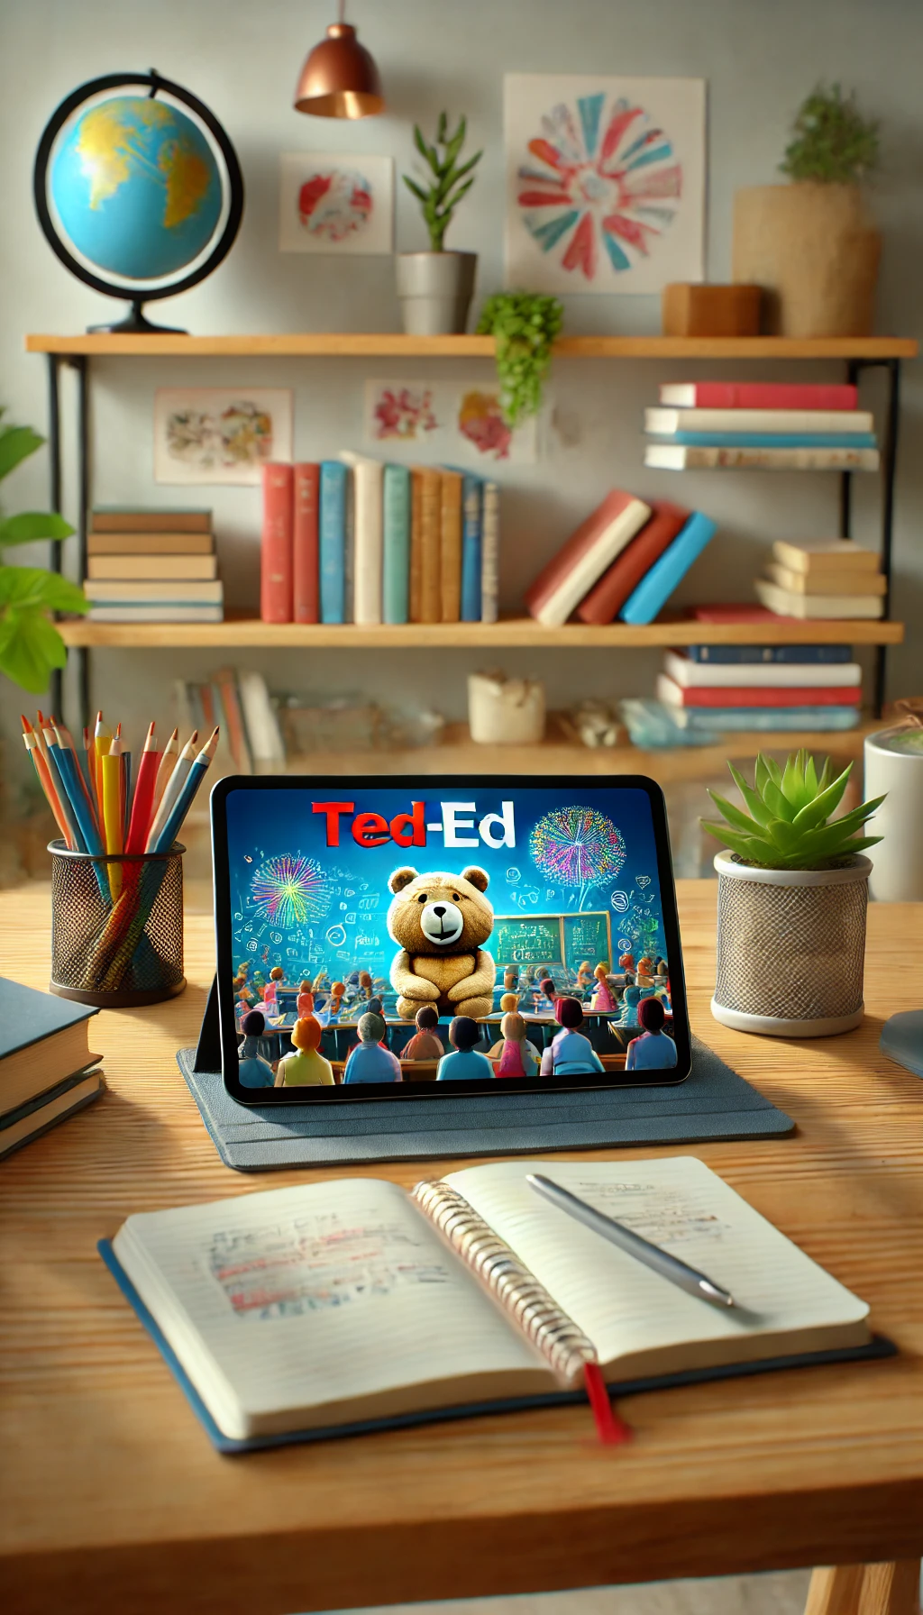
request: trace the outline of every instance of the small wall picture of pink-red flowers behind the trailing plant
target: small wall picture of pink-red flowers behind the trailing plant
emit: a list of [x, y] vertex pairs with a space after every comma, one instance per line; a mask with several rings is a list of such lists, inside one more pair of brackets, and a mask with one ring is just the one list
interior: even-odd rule
[[424, 464], [530, 465], [538, 454], [535, 418], [512, 431], [491, 381], [365, 383], [365, 443], [391, 459]]

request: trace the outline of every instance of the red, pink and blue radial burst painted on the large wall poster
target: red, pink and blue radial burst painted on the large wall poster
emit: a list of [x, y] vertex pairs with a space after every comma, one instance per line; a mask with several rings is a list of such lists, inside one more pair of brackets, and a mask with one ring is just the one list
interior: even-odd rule
[[542, 252], [584, 281], [648, 258], [679, 212], [674, 144], [626, 95], [558, 102], [527, 152], [516, 189], [522, 223]]

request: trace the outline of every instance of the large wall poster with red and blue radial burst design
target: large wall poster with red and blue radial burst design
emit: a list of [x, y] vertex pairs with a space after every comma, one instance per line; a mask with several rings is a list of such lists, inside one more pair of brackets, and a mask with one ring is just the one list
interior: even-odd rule
[[504, 142], [508, 286], [703, 279], [703, 79], [511, 73]]

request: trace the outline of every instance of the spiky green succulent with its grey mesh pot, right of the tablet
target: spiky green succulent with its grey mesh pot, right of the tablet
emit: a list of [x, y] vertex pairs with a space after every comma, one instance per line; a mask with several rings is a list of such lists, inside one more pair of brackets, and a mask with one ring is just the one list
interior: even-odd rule
[[863, 1016], [865, 908], [881, 837], [863, 835], [884, 801], [876, 796], [841, 819], [852, 762], [818, 777], [807, 751], [781, 769], [760, 754], [753, 785], [731, 777], [750, 809], [710, 791], [724, 824], [702, 820], [729, 848], [718, 853], [718, 975], [711, 1013], [740, 1032], [828, 1037]]

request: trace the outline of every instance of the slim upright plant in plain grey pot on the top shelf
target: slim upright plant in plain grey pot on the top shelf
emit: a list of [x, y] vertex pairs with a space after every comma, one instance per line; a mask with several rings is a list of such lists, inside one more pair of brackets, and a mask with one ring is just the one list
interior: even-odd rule
[[[474, 168], [482, 152], [459, 163], [467, 121], [459, 118], [454, 134], [448, 132], [448, 115], [440, 113], [436, 137], [427, 144], [414, 124], [414, 144], [430, 170], [428, 186], [404, 174], [407, 191], [420, 203], [430, 234], [430, 252], [398, 254], [398, 297], [404, 331], [411, 336], [445, 336], [464, 331], [474, 294], [475, 252], [448, 252], [443, 245], [454, 212], [475, 181]], [[427, 179], [430, 179], [427, 174]]]

